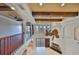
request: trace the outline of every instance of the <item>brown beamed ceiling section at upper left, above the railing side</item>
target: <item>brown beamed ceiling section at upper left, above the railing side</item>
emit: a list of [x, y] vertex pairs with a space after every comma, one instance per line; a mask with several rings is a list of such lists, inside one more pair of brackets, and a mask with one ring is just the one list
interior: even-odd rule
[[20, 16], [15, 12], [15, 10], [12, 10], [9, 6], [7, 6], [4, 3], [0, 3], [0, 14], [8, 16], [10, 18], [15, 18], [16, 16], [20, 18]]

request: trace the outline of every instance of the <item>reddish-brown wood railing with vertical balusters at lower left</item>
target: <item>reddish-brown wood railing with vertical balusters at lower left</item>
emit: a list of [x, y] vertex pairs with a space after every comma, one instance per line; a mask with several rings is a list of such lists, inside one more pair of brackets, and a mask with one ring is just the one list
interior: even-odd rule
[[0, 55], [10, 55], [22, 45], [22, 34], [0, 38]]

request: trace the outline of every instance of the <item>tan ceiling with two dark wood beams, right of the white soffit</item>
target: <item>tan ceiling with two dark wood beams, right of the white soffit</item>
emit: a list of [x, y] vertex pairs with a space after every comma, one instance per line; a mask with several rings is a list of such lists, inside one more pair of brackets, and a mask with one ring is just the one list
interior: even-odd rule
[[[78, 16], [79, 12], [79, 4], [78, 3], [66, 3], [63, 7], [61, 3], [44, 3], [40, 6], [37, 4], [29, 4], [32, 10], [32, 15], [35, 18], [35, 21], [53, 21], [58, 22], [62, 21], [63, 17], [75, 17]], [[38, 16], [38, 17], [35, 17]], [[41, 17], [41, 16], [44, 16]], [[45, 18], [46, 16], [46, 18]], [[47, 18], [48, 16], [52, 17], [52, 19]], [[55, 17], [55, 18], [53, 18]], [[58, 18], [56, 18], [58, 17]], [[61, 18], [62, 17], [62, 18]]]

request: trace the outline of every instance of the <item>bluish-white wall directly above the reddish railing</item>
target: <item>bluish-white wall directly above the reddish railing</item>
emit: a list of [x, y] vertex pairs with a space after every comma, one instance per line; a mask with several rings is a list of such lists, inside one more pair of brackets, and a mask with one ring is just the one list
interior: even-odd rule
[[10, 36], [22, 33], [20, 25], [1, 25], [0, 24], [0, 37]]

